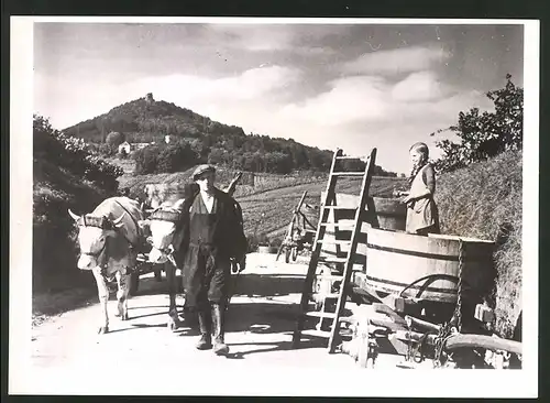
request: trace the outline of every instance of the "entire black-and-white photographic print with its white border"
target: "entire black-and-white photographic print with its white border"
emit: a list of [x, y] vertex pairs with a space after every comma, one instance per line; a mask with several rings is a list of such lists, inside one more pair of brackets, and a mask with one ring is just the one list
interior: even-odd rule
[[10, 393], [537, 395], [538, 21], [11, 22]]

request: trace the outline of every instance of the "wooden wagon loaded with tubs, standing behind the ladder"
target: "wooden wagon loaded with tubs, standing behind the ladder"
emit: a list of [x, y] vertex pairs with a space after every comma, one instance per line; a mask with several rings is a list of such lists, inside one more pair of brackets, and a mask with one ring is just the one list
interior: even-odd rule
[[[337, 203], [353, 207], [358, 199], [337, 194]], [[340, 334], [340, 351], [371, 368], [381, 348], [404, 356], [400, 366], [406, 368], [428, 358], [437, 367], [520, 366], [521, 344], [494, 334], [495, 315], [485, 298], [496, 275], [494, 242], [406, 233], [403, 204], [376, 198], [370, 204], [371, 224], [362, 224], [364, 237], [354, 253], [358, 264], [346, 292], [349, 301], [365, 308], [341, 317], [348, 328]], [[338, 242], [346, 238], [343, 232], [334, 227], [329, 235], [333, 241], [323, 243], [323, 253], [336, 258], [346, 253], [345, 243]], [[323, 268], [314, 282], [318, 330], [328, 322], [323, 318], [330, 303], [327, 295], [334, 295], [341, 286], [331, 275], [338, 276], [341, 270], [338, 264]]]

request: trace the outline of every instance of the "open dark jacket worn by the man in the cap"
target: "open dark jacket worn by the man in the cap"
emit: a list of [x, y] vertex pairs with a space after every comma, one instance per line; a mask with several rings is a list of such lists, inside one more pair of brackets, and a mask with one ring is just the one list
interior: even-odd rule
[[[199, 192], [197, 184], [188, 185], [185, 189], [185, 203], [180, 222], [184, 228], [184, 236], [182, 244], [178, 248], [178, 253], [176, 254], [178, 266], [182, 266], [189, 247], [189, 208], [199, 195]], [[222, 255], [241, 261], [246, 254], [248, 249], [241, 206], [235, 199], [218, 188], [215, 189], [215, 197], [218, 199], [218, 209], [216, 213], [218, 230], [215, 243]]]

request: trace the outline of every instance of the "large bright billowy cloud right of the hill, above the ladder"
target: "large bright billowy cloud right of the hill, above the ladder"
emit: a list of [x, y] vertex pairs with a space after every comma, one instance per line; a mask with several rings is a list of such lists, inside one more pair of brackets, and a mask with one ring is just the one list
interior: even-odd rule
[[481, 92], [444, 85], [431, 72], [413, 73], [395, 84], [382, 76], [345, 77], [328, 84], [328, 91], [289, 104], [280, 115], [318, 127], [403, 124], [452, 122], [461, 110], [486, 106]]

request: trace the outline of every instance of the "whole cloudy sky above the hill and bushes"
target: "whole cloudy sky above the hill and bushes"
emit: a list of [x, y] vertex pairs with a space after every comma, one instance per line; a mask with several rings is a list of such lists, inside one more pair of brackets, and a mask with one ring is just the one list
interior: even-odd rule
[[438, 157], [430, 133], [491, 109], [507, 73], [522, 86], [521, 25], [365, 22], [37, 22], [34, 111], [65, 129], [152, 92], [246, 134], [376, 148], [378, 165], [408, 173], [413, 143]]

